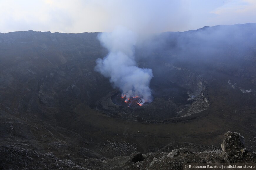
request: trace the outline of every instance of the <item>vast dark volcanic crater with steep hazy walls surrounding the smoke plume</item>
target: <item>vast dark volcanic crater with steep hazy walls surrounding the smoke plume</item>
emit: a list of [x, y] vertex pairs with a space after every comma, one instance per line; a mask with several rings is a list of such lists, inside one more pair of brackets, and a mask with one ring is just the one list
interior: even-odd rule
[[0, 34], [0, 169], [125, 169], [133, 152], [144, 153], [140, 169], [151, 161], [169, 168], [153, 158], [183, 147], [214, 152], [227, 131], [256, 150], [255, 30], [250, 23], [162, 34], [163, 47], [137, 53], [150, 54], [137, 63], [152, 68], [154, 100], [130, 108], [112, 102], [120, 90], [94, 71], [108, 53], [98, 33]]

